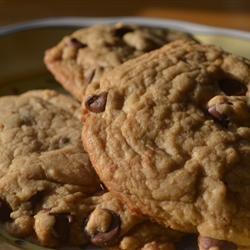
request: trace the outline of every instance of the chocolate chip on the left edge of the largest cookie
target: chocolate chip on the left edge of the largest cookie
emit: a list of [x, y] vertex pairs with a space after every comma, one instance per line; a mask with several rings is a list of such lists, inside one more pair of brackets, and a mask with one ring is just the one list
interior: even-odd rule
[[106, 107], [107, 96], [107, 92], [103, 92], [100, 95], [90, 96], [85, 102], [86, 108], [94, 113], [103, 112]]

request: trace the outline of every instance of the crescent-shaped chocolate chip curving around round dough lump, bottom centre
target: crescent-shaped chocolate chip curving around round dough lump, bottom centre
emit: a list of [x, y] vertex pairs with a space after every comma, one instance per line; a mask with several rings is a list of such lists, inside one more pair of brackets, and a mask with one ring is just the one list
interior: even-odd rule
[[107, 232], [96, 232], [91, 236], [90, 241], [92, 244], [99, 247], [106, 247], [116, 244], [121, 229], [120, 216], [113, 211], [107, 210], [112, 216], [112, 223], [109, 226]]

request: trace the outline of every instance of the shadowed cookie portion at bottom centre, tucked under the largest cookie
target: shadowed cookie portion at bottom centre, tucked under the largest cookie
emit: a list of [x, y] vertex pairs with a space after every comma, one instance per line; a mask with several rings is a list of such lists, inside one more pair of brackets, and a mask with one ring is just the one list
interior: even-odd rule
[[96, 246], [109, 250], [139, 250], [145, 247], [155, 250], [164, 246], [163, 249], [174, 250], [175, 244], [183, 237], [180, 232], [129, 211], [127, 205], [110, 192], [91, 199], [96, 200], [96, 205], [86, 221], [85, 232]]

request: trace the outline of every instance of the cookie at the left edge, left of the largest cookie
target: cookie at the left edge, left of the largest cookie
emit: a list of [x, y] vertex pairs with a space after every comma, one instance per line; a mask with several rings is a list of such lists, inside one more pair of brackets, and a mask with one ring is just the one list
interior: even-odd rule
[[42, 244], [57, 245], [99, 185], [81, 145], [79, 104], [54, 91], [31, 91], [1, 97], [0, 110], [1, 221], [13, 235], [35, 231]]

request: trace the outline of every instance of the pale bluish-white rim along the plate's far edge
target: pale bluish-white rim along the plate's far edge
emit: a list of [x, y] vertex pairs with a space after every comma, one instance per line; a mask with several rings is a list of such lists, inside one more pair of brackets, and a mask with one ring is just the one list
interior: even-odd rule
[[82, 27], [94, 24], [110, 24], [116, 22], [133, 23], [138, 25], [147, 25], [153, 27], [165, 27], [190, 33], [199, 33], [204, 35], [223, 35], [229, 37], [250, 40], [250, 32], [228, 29], [223, 27], [214, 27], [204, 24], [198, 24], [174, 19], [144, 18], [144, 17], [51, 17], [43, 19], [34, 19], [28, 22], [20, 22], [0, 27], [0, 36], [17, 33], [37, 28], [53, 27]]

